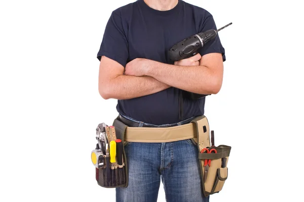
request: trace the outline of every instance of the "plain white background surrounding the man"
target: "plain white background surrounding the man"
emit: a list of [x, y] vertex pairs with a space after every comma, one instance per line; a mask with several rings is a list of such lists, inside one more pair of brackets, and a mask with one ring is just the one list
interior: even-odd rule
[[[96, 126], [117, 116], [98, 93], [96, 54], [111, 11], [131, 2], [1, 1], [0, 201], [115, 201], [90, 159]], [[233, 22], [219, 32], [222, 89], [206, 100], [216, 144], [232, 146], [210, 201], [301, 201], [301, 1], [185, 2]]]

